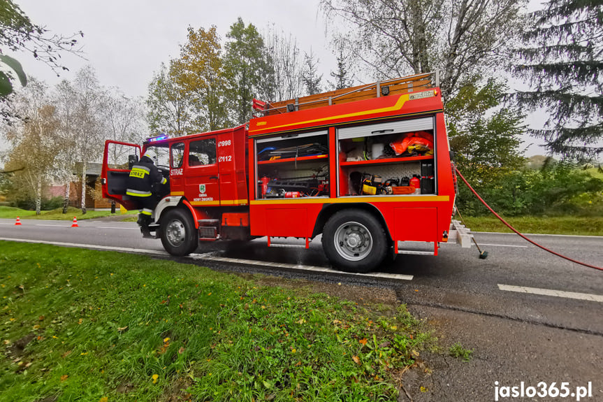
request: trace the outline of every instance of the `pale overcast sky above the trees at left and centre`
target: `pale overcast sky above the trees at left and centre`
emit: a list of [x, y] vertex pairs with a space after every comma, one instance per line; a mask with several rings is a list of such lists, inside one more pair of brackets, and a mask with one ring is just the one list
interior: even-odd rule
[[324, 80], [335, 70], [335, 57], [328, 49], [325, 24], [318, 12], [319, 0], [16, 0], [34, 24], [52, 33], [78, 38], [87, 60], [64, 55], [70, 69], [57, 78], [41, 62], [29, 55], [17, 55], [28, 76], [54, 85], [85, 64], [96, 69], [101, 85], [117, 86], [128, 96], [145, 96], [153, 72], [161, 62], [179, 55], [187, 38], [187, 27], [217, 27], [222, 41], [231, 24], [242, 17], [259, 31], [274, 24], [291, 34], [302, 52], [319, 57]]

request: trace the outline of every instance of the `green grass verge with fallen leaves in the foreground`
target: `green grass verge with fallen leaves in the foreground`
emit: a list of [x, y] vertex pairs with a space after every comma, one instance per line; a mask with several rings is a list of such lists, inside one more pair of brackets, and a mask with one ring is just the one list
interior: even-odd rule
[[116, 252], [0, 256], [0, 401], [395, 401], [434, 341], [405, 306]]

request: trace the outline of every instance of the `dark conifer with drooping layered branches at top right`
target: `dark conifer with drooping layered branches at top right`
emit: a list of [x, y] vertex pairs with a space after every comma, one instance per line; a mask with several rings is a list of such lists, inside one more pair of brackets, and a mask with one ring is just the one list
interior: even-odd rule
[[603, 152], [603, 7], [601, 1], [549, 0], [531, 14], [522, 57], [513, 71], [531, 90], [517, 92], [525, 107], [545, 108], [542, 129], [530, 130], [548, 151], [569, 158]]

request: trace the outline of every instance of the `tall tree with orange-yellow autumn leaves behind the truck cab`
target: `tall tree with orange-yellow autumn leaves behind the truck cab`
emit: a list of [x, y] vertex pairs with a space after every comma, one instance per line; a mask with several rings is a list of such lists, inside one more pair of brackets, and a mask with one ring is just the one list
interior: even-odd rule
[[226, 80], [222, 70], [220, 38], [216, 27], [188, 28], [187, 43], [180, 48], [175, 62], [177, 85], [191, 101], [198, 131], [217, 130], [226, 126], [224, 92]]

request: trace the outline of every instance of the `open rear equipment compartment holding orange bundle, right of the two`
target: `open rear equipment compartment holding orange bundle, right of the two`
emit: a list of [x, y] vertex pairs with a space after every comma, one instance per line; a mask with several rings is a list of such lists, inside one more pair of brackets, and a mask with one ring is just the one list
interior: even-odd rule
[[433, 117], [340, 127], [337, 145], [339, 196], [436, 194]]

